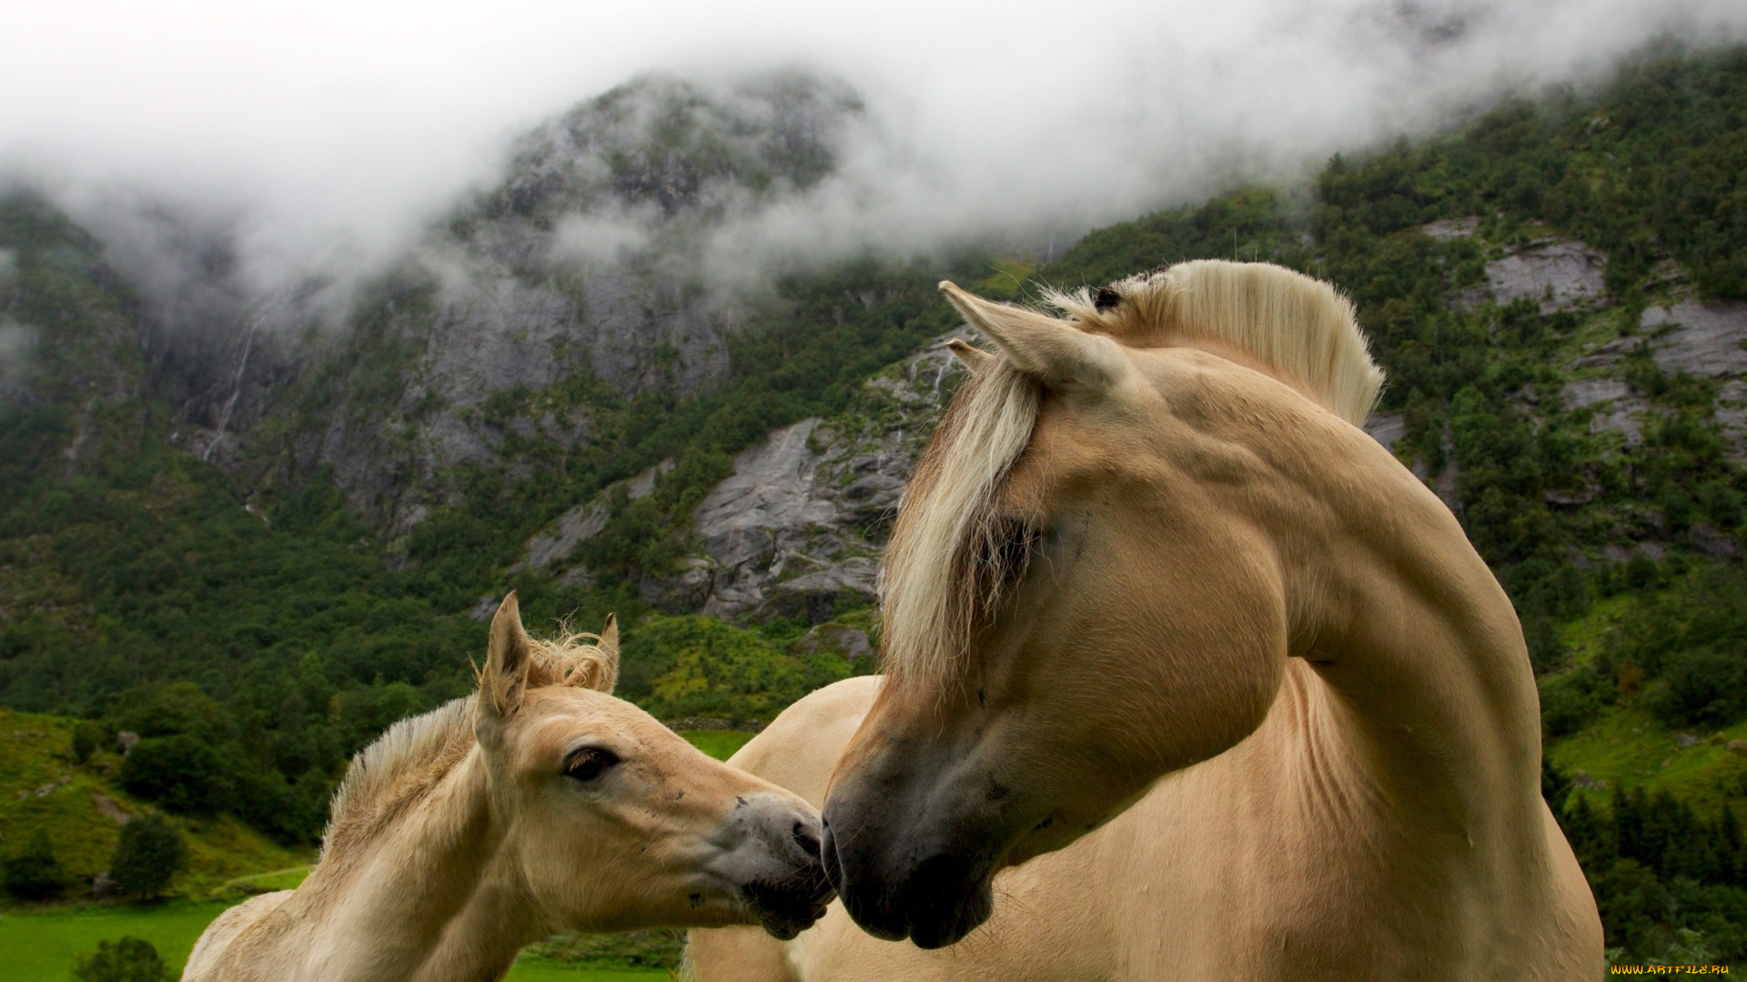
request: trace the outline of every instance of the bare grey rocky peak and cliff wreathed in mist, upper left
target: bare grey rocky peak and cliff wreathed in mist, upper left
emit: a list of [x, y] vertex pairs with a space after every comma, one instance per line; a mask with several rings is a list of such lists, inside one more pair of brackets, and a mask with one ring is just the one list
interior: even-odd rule
[[[327, 467], [358, 514], [404, 536], [458, 500], [458, 468], [526, 477], [535, 437], [590, 440], [587, 400], [503, 416], [494, 397], [722, 379], [758, 299], [722, 285], [715, 232], [828, 173], [858, 112], [853, 93], [797, 75], [725, 91], [650, 77], [582, 103], [365, 285], [339, 330], [316, 327], [323, 294], [307, 283], [208, 304], [213, 323], [166, 334], [162, 362], [192, 376], [176, 442], [245, 488]], [[176, 302], [187, 313], [185, 285], [164, 294], [171, 318]]]

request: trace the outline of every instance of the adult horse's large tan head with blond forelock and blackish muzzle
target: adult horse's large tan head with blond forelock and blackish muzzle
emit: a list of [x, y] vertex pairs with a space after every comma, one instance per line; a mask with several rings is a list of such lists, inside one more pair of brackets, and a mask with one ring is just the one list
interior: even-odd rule
[[1279, 482], [1233, 432], [1317, 411], [1218, 332], [1162, 334], [1188, 316], [1167, 287], [1059, 297], [1062, 320], [942, 285], [998, 351], [957, 346], [971, 379], [887, 549], [889, 681], [825, 806], [826, 872], [870, 933], [959, 940], [996, 870], [1233, 746], [1274, 702], [1288, 606], [1247, 498]]

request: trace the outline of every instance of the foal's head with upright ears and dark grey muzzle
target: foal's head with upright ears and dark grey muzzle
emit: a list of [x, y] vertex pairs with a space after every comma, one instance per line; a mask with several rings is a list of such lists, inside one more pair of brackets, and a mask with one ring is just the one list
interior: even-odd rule
[[615, 699], [617, 676], [611, 617], [533, 641], [515, 594], [498, 608], [473, 730], [515, 888], [550, 930], [812, 924], [830, 900], [814, 809]]

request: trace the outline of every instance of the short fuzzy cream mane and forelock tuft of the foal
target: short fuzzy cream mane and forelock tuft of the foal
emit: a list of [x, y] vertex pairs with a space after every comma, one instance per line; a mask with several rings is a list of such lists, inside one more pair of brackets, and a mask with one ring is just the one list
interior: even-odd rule
[[[557, 638], [529, 638], [533, 657], [526, 685], [557, 685], [578, 671], [610, 671], [611, 659], [601, 638], [561, 629]], [[355, 842], [381, 828], [383, 821], [428, 792], [473, 748], [475, 695], [451, 699], [430, 713], [407, 716], [383, 730], [360, 750], [334, 792], [328, 826], [321, 835], [323, 854], [337, 844]]]

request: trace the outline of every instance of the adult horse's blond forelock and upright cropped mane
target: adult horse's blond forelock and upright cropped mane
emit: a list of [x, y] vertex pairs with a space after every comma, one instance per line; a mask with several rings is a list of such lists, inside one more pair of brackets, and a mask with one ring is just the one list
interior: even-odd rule
[[[1319, 280], [1261, 262], [1197, 260], [1045, 299], [1088, 332], [1134, 348], [1216, 341], [1296, 381], [1363, 425], [1384, 374], [1352, 304]], [[971, 372], [915, 465], [880, 570], [884, 667], [894, 687], [945, 678], [1024, 563], [1024, 529], [992, 510], [1031, 442], [1041, 390], [1008, 358]]]

